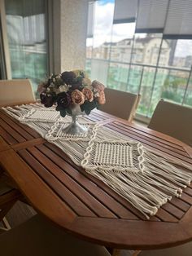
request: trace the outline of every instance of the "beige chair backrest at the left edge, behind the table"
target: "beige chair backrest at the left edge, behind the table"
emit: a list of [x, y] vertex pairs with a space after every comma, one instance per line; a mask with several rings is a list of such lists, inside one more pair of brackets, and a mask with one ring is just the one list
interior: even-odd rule
[[33, 88], [28, 79], [0, 80], [0, 107], [34, 101]]

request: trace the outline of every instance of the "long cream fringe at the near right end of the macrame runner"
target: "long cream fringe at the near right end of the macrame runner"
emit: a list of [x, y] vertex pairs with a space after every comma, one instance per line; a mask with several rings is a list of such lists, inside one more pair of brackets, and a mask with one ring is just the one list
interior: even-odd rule
[[94, 177], [101, 179], [103, 183], [111, 187], [120, 196], [129, 201], [146, 218], [157, 213], [159, 207], [172, 199], [172, 196], [180, 197], [182, 188], [190, 184], [192, 174], [181, 170], [172, 164], [183, 166], [192, 170], [178, 161], [157, 157], [145, 150], [143, 171], [116, 171], [102, 168], [86, 170]]

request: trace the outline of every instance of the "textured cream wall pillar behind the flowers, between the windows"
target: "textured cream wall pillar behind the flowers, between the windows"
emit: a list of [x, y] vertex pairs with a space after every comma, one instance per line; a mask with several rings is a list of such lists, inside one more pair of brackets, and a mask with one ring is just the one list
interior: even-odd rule
[[52, 13], [53, 72], [85, 69], [88, 0], [53, 1]]

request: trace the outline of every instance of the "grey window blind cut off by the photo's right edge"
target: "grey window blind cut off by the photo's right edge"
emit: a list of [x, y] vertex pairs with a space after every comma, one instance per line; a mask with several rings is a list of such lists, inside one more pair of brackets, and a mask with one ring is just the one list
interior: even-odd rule
[[192, 1], [171, 0], [164, 28], [164, 38], [192, 38]]

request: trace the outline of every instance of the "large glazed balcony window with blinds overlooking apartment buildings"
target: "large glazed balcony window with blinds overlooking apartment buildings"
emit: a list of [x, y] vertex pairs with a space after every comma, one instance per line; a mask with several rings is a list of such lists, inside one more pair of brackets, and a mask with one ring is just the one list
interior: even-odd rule
[[161, 98], [192, 106], [192, 15], [185, 15], [192, 2], [100, 0], [94, 5], [86, 66], [91, 77], [140, 93], [137, 113], [146, 117]]

